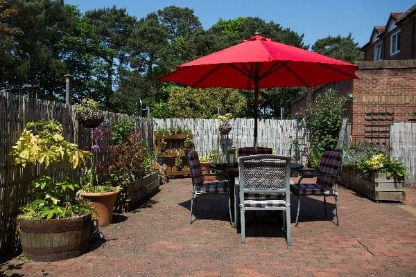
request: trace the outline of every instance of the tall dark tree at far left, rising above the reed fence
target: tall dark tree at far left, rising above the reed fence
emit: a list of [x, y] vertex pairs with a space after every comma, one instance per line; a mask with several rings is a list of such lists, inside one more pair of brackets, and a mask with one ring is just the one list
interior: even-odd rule
[[[8, 68], [4, 87], [37, 89], [51, 98], [64, 96], [64, 63], [58, 59], [55, 44], [63, 35], [62, 28], [76, 20], [70, 6], [60, 1], [15, 0], [19, 13], [9, 24], [21, 30], [15, 35], [13, 48], [8, 52], [12, 67]], [[3, 78], [1, 76], [0, 78]]]

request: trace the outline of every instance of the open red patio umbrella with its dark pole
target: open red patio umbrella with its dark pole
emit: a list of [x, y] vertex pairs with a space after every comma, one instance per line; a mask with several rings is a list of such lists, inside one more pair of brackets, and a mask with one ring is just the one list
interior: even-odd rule
[[319, 84], [357, 79], [355, 64], [343, 62], [273, 42], [256, 33], [240, 44], [177, 66], [159, 80], [189, 87], [254, 89], [254, 146], [260, 89], [315, 87]]

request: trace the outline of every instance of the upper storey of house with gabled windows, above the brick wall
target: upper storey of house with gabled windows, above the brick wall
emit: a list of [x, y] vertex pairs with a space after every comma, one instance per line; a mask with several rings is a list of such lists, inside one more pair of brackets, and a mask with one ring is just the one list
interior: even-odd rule
[[361, 51], [367, 61], [416, 59], [416, 5], [390, 13], [385, 26], [374, 26]]

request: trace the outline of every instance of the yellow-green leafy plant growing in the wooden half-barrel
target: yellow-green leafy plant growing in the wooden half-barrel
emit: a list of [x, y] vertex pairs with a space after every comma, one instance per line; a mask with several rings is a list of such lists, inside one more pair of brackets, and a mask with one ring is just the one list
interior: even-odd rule
[[[35, 132], [37, 131], [37, 132]], [[66, 141], [62, 135], [62, 125], [55, 120], [40, 120], [26, 124], [26, 129], [10, 152], [15, 163], [26, 167], [51, 163], [67, 162], [71, 168], [85, 164], [90, 152], [78, 149], [78, 145]], [[42, 176], [33, 182], [34, 200], [22, 208], [25, 218], [51, 219], [67, 218], [91, 213], [85, 202], [76, 199], [79, 185], [68, 177], [64, 181], [53, 181]]]

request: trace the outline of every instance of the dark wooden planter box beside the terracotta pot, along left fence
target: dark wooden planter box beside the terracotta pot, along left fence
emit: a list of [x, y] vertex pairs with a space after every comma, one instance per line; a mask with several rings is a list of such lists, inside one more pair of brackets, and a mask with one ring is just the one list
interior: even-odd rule
[[122, 213], [136, 208], [144, 199], [159, 191], [159, 172], [155, 171], [130, 184], [124, 185], [116, 204], [116, 211]]

